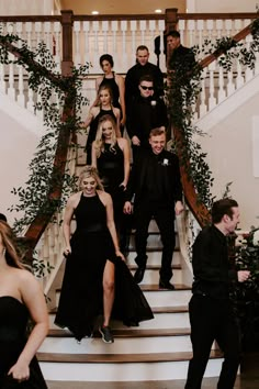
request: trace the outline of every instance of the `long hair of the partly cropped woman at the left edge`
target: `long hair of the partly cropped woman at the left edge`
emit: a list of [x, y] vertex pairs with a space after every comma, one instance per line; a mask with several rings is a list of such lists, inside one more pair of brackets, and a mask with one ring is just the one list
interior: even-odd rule
[[5, 248], [5, 260], [9, 266], [23, 269], [21, 258], [18, 253], [15, 236], [10, 225], [0, 220], [0, 235], [2, 237], [2, 245]]

